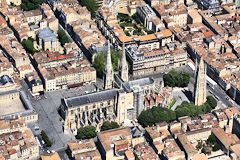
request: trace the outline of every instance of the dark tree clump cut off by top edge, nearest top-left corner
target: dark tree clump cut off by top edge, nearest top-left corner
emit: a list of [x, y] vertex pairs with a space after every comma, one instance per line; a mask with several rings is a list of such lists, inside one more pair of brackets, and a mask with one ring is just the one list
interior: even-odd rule
[[37, 9], [43, 2], [44, 0], [22, 0], [20, 7], [24, 11], [30, 11]]

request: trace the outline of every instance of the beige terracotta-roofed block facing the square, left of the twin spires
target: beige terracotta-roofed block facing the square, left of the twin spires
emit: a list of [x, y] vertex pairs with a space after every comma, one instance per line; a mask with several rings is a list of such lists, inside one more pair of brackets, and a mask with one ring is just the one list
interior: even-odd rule
[[72, 43], [65, 44], [65, 54], [59, 52], [39, 52], [34, 55], [34, 67], [46, 91], [81, 86], [96, 82], [96, 70]]

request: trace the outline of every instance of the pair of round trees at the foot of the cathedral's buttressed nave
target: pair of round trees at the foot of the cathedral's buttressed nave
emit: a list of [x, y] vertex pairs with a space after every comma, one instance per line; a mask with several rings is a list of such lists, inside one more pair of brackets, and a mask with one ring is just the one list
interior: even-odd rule
[[[115, 128], [119, 128], [119, 125], [117, 124], [117, 122], [104, 121], [101, 126], [101, 131], [106, 131], [106, 130], [115, 129]], [[94, 138], [96, 136], [97, 136], [96, 127], [86, 126], [86, 127], [81, 127], [78, 129], [76, 138], [77, 139], [90, 139], [90, 138]]]

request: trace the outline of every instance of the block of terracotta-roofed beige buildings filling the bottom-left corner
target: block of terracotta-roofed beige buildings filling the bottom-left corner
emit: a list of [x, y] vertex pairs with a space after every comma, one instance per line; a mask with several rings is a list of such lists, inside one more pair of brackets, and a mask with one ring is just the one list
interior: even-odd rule
[[39, 146], [24, 120], [0, 120], [0, 132], [2, 142], [0, 156], [3, 159], [33, 160], [39, 158]]

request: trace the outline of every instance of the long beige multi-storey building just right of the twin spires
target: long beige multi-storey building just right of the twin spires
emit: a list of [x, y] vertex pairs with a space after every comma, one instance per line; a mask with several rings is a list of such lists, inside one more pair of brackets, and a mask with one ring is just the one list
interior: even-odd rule
[[149, 75], [169, 71], [187, 62], [187, 52], [182, 48], [135, 49], [126, 50], [133, 76]]

